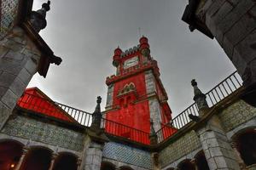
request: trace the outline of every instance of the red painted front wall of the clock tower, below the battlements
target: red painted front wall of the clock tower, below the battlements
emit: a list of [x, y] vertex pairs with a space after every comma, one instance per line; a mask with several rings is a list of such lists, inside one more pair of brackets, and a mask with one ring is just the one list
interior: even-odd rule
[[[131, 82], [135, 85], [136, 93], [123, 94], [118, 97], [119, 91], [125, 87], [125, 84], [130, 84]], [[119, 127], [113, 127], [114, 125], [109, 123], [106, 127], [107, 132], [149, 144], [150, 113], [148, 100], [137, 103], [137, 100], [145, 95], [146, 84], [144, 72], [115, 82], [113, 87], [113, 107], [118, 107], [119, 109], [117, 111], [109, 111], [106, 118], [113, 122], [119, 122], [127, 127], [122, 127], [121, 125]], [[136, 128], [142, 132], [135, 131], [129, 127]]]

